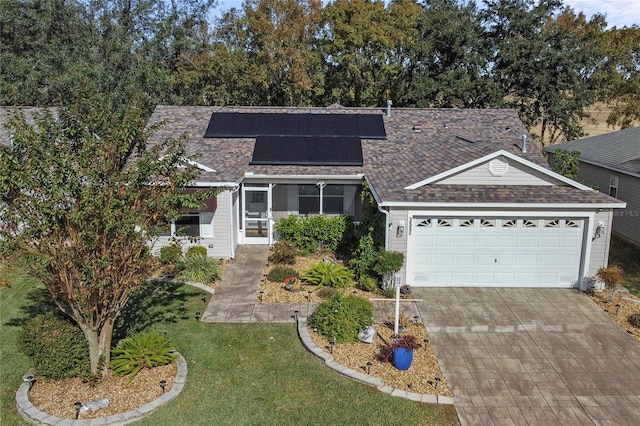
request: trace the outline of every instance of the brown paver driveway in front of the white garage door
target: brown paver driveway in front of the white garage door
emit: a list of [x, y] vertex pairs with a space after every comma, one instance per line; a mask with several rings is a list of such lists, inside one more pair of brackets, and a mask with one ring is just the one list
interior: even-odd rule
[[413, 290], [463, 425], [640, 424], [640, 343], [584, 293]]

